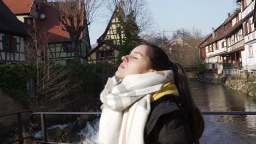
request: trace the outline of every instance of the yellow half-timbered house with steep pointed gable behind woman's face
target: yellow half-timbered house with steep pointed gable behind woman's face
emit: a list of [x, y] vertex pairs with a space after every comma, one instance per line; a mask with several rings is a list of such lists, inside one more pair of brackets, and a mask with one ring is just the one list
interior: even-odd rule
[[124, 33], [121, 27], [123, 12], [120, 2], [115, 8], [111, 19], [108, 22], [107, 28], [100, 38], [97, 39], [98, 45], [92, 49], [86, 56], [88, 63], [108, 62], [116, 64], [120, 46], [123, 44]]

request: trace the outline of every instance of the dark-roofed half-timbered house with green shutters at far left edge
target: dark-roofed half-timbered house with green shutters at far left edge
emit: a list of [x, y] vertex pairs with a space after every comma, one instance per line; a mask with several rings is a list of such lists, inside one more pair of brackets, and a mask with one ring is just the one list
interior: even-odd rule
[[25, 62], [26, 26], [0, 1], [0, 64]]

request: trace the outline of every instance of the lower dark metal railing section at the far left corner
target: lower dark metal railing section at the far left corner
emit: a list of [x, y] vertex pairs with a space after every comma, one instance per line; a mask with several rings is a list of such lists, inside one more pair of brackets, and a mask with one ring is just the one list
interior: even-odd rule
[[19, 144], [22, 144], [24, 140], [31, 138], [31, 136], [23, 137], [23, 135], [22, 135], [21, 113], [25, 113], [25, 112], [33, 113], [33, 111], [25, 110], [25, 111], [18, 111], [18, 112], [6, 113], [6, 114], [3, 114], [3, 115], [0, 115], [0, 118], [5, 117], [5, 116], [10, 116], [10, 115], [17, 115], [18, 139], [11, 140], [11, 141], [8, 141], [8, 142], [4, 142], [2, 144], [14, 143], [14, 142], [17, 142], [17, 141], [19, 141]]

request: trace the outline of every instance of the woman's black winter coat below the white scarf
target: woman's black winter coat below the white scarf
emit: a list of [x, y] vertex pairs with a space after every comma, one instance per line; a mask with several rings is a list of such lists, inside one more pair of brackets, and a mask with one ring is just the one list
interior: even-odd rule
[[146, 144], [193, 143], [187, 109], [174, 95], [165, 95], [151, 104], [144, 129]]

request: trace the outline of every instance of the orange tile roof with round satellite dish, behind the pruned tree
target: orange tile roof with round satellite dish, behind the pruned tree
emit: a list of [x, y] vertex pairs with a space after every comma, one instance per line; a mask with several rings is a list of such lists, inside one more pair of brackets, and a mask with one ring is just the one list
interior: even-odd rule
[[[40, 20], [40, 15], [44, 14], [45, 19]], [[47, 31], [48, 41], [51, 43], [60, 43], [64, 41], [71, 41], [69, 34], [62, 30], [62, 25], [57, 18], [56, 11], [48, 4], [42, 4], [38, 13], [39, 29], [45, 29]], [[82, 34], [80, 35], [80, 39]]]

